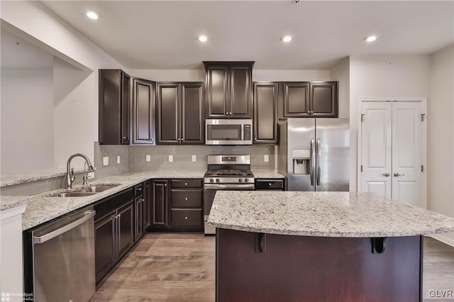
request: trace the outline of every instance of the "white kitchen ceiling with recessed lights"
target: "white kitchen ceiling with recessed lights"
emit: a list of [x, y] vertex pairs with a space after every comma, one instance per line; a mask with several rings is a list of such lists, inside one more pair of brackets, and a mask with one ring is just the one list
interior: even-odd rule
[[[42, 2], [129, 69], [202, 69], [204, 60], [329, 69], [348, 55], [428, 55], [454, 43], [454, 1]], [[379, 38], [367, 45], [370, 34]]]

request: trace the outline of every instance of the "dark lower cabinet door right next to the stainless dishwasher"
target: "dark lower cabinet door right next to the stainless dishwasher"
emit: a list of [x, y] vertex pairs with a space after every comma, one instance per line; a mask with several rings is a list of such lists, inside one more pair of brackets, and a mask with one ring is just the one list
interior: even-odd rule
[[96, 283], [116, 262], [116, 211], [94, 222]]

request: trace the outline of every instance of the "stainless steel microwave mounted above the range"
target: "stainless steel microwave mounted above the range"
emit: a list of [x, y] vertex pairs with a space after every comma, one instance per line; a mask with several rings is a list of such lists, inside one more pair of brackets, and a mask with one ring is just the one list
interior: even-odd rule
[[205, 120], [205, 145], [252, 145], [253, 120]]

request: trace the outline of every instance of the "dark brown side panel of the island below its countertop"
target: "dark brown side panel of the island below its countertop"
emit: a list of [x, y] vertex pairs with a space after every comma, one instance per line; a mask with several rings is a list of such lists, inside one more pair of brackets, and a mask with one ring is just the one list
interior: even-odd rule
[[370, 238], [266, 234], [216, 229], [216, 301], [421, 301], [422, 237]]

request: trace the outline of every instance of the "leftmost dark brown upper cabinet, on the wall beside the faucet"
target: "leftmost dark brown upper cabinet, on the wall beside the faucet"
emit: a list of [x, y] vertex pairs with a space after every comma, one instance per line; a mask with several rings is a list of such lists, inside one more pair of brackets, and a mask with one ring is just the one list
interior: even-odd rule
[[120, 69], [99, 69], [100, 145], [129, 145], [130, 79]]

